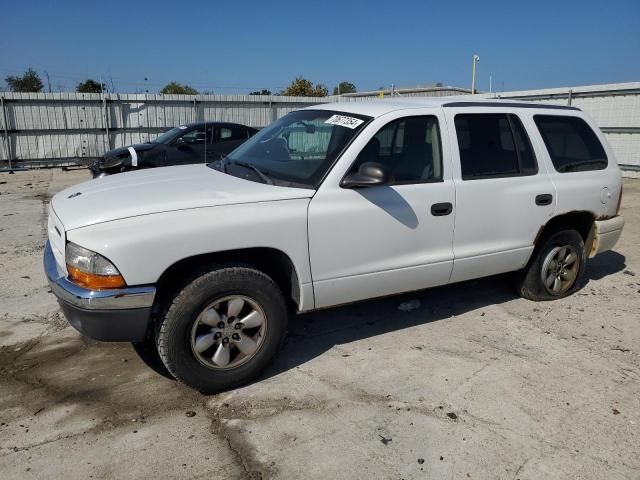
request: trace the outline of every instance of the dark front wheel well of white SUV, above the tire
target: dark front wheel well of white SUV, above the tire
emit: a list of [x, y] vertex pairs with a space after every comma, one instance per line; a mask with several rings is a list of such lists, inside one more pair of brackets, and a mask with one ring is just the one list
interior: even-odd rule
[[182, 288], [194, 271], [207, 265], [244, 265], [269, 275], [280, 287], [285, 298], [296, 308], [301, 303], [300, 277], [291, 258], [282, 250], [272, 247], [253, 247], [205, 253], [178, 260], [167, 267], [156, 283], [159, 302]]

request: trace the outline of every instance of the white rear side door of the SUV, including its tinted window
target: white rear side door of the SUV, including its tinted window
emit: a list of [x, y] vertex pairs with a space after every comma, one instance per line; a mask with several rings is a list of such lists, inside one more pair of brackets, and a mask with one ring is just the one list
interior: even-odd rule
[[518, 270], [553, 215], [556, 191], [543, 152], [517, 109], [444, 108], [454, 152], [457, 282]]

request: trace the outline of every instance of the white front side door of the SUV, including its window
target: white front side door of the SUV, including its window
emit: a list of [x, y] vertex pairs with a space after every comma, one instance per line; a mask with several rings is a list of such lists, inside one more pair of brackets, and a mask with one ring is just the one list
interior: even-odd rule
[[[362, 135], [372, 137], [355, 161], [343, 158], [309, 205], [316, 308], [444, 284], [451, 274], [455, 190], [440, 113], [386, 117], [367, 127]], [[395, 181], [342, 188], [343, 161], [346, 173], [383, 163]]]

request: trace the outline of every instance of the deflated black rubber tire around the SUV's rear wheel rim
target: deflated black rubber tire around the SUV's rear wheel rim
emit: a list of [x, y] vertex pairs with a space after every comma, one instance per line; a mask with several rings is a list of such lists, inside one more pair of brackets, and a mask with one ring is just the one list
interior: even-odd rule
[[[553, 252], [557, 252], [558, 248], [570, 247], [577, 255], [575, 268], [575, 278], [567, 285], [567, 288], [561, 287], [557, 292], [552, 291], [552, 287], [545, 286], [545, 278], [550, 278], [543, 274], [546, 269], [545, 261], [550, 259]], [[523, 298], [534, 301], [557, 300], [573, 294], [582, 287], [584, 268], [586, 262], [586, 253], [582, 237], [575, 230], [562, 230], [543, 239], [541, 244], [533, 252], [527, 266], [518, 274], [516, 288], [518, 294]], [[573, 267], [572, 267], [573, 268]], [[547, 271], [548, 273], [548, 271]]]

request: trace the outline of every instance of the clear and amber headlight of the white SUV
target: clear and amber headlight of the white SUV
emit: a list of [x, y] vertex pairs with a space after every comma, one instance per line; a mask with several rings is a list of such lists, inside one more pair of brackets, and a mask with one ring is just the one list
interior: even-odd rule
[[91, 290], [106, 290], [126, 286], [118, 269], [102, 255], [68, 242], [65, 262], [69, 280]]

